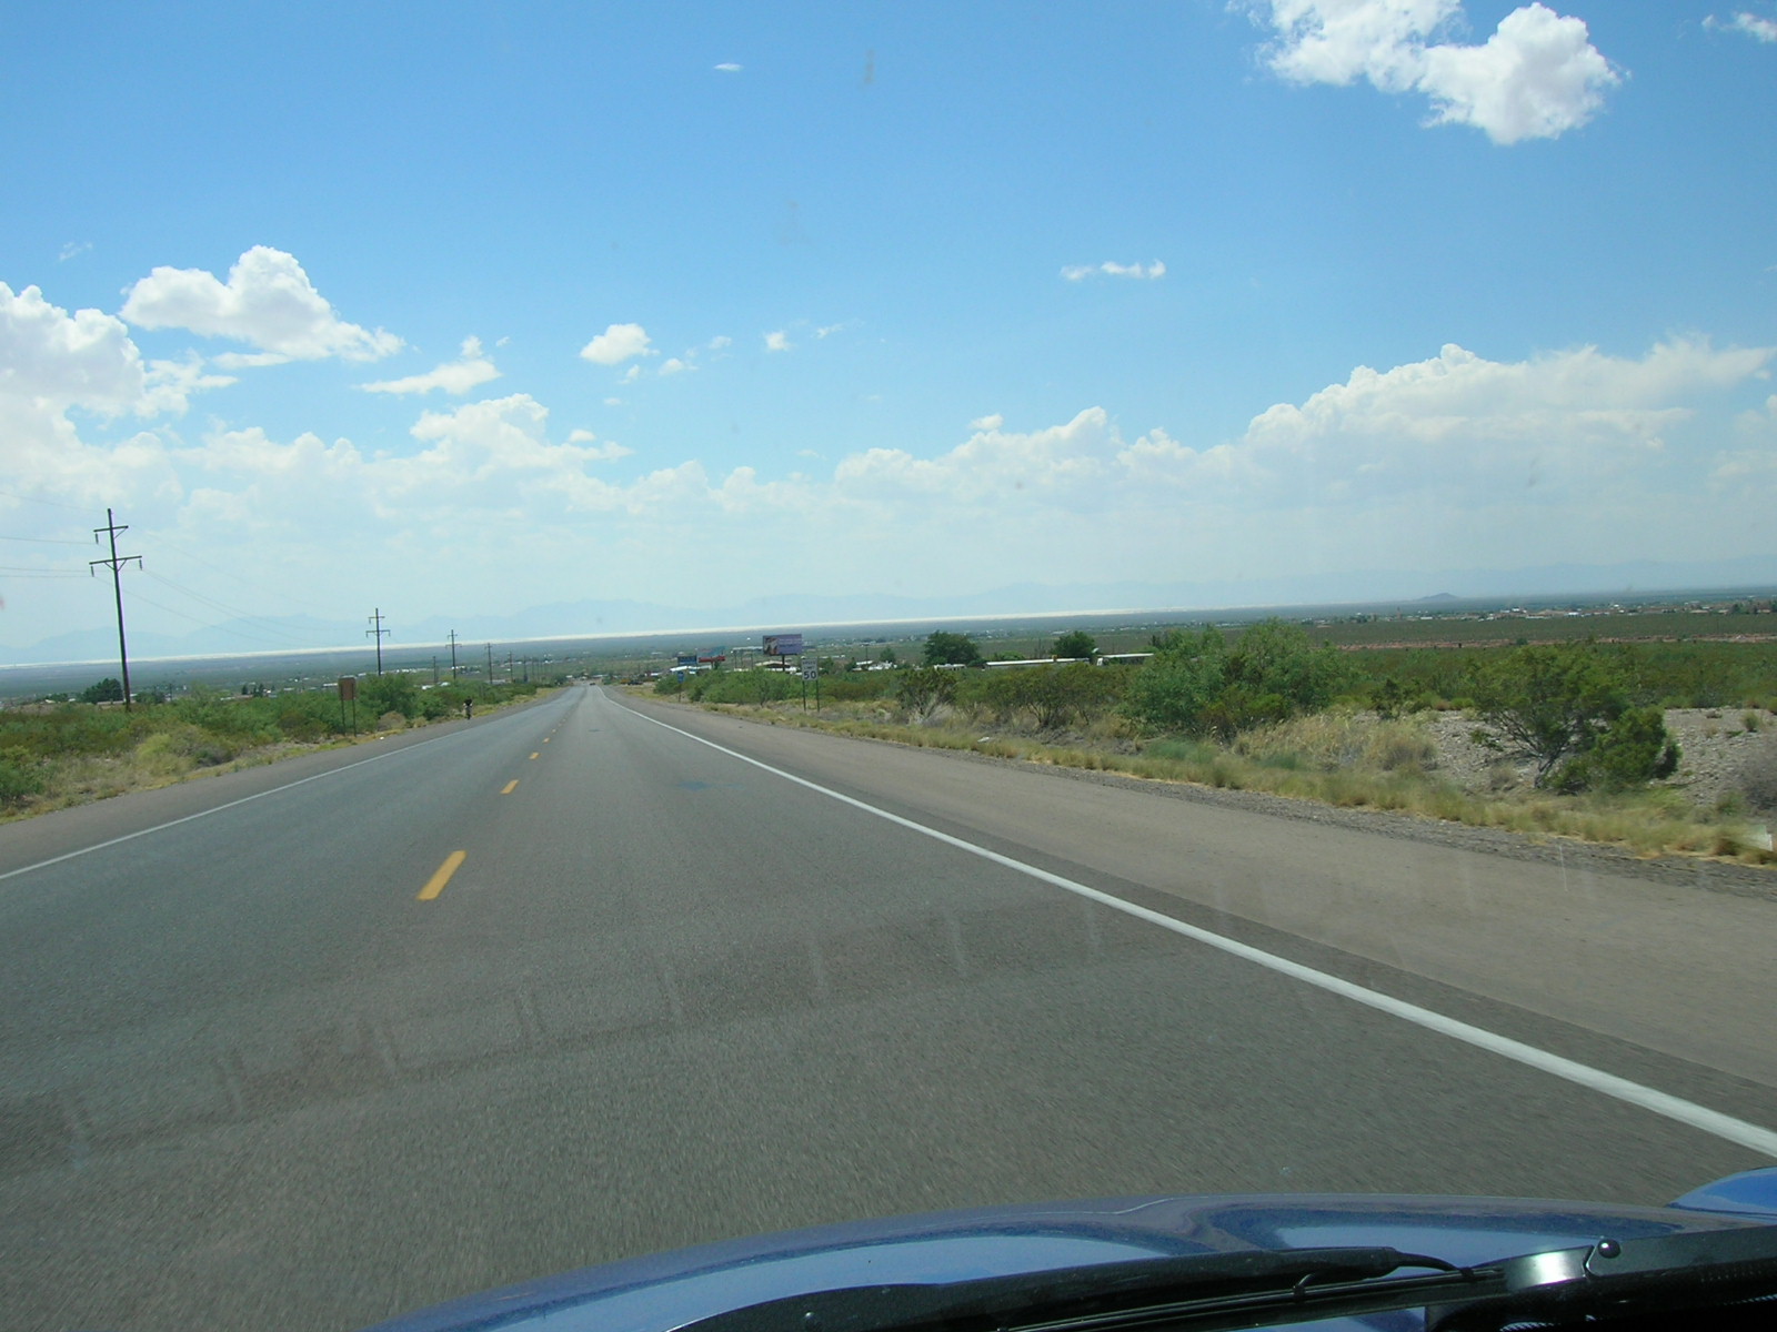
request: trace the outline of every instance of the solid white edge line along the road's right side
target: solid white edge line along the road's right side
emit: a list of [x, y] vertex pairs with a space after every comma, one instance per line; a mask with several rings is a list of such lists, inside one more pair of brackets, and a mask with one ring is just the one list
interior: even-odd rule
[[1365, 989], [1363, 986], [1354, 986], [1351, 980], [1342, 980], [1336, 975], [1327, 975], [1326, 971], [1317, 971], [1311, 966], [1303, 966], [1301, 963], [1292, 963], [1287, 957], [1278, 957], [1263, 948], [1255, 948], [1249, 943], [1240, 943], [1239, 940], [1230, 940], [1226, 934], [1214, 934], [1212, 931], [1199, 929], [1196, 925], [1187, 925], [1183, 920], [1175, 920], [1160, 911], [1150, 911], [1144, 906], [1136, 906], [1134, 902], [1125, 902], [1121, 897], [1112, 897], [1111, 893], [1100, 892], [1098, 888], [1088, 888], [1084, 883], [1063, 877], [1059, 874], [1050, 874], [1048, 870], [1038, 868], [1036, 865], [1025, 865], [1022, 860], [1013, 860], [1011, 856], [1002, 856], [997, 851], [988, 851], [986, 847], [976, 845], [974, 842], [965, 842], [960, 836], [951, 836], [949, 833], [940, 833], [936, 828], [926, 828], [926, 824], [913, 822], [912, 819], [903, 819], [899, 813], [890, 813], [888, 810], [880, 810], [874, 805], [867, 805], [853, 796], [832, 790], [819, 785], [817, 781], [809, 781], [794, 773], [785, 773], [780, 767], [771, 767], [771, 764], [762, 764], [757, 758], [748, 758], [746, 755], [729, 749], [714, 741], [705, 741], [702, 735], [693, 735], [688, 730], [679, 730], [677, 726], [661, 721], [659, 718], [650, 718], [633, 707], [626, 707], [631, 716], [641, 718], [643, 721], [652, 721], [656, 726], [673, 732], [675, 735], [684, 735], [688, 741], [697, 741], [698, 744], [707, 744], [711, 749], [718, 749], [730, 758], [739, 758], [743, 764], [752, 764], [766, 773], [784, 778], [785, 781], [794, 781], [798, 787], [807, 787], [823, 796], [828, 796], [842, 805], [849, 805], [864, 813], [873, 813], [878, 819], [887, 819], [892, 824], [906, 828], [913, 833], [933, 838], [935, 842], [944, 842], [945, 845], [956, 847], [958, 851], [967, 851], [972, 856], [981, 856], [981, 860], [990, 860], [995, 865], [1004, 865], [1018, 874], [1027, 874], [1041, 883], [1054, 884], [1056, 888], [1064, 888], [1070, 893], [1077, 893], [1100, 906], [1109, 906], [1114, 911], [1136, 916], [1137, 920], [1146, 920], [1150, 925], [1159, 925], [1169, 929], [1175, 934], [1183, 934], [1198, 943], [1207, 943], [1212, 948], [1221, 948], [1226, 954], [1242, 957], [1249, 963], [1258, 963], [1260, 966], [1271, 968], [1292, 980], [1301, 980], [1308, 986], [1317, 986], [1340, 998], [1349, 998], [1356, 1003], [1363, 1003], [1379, 1012], [1386, 1012], [1402, 1021], [1414, 1023], [1439, 1035], [1448, 1035], [1455, 1041], [1464, 1041], [1478, 1050], [1486, 1050], [1493, 1055], [1502, 1055], [1503, 1058], [1516, 1060], [1528, 1067], [1539, 1069], [1542, 1073], [1551, 1073], [1557, 1078], [1566, 1078], [1567, 1082], [1587, 1087], [1594, 1092], [1603, 1092], [1605, 1096], [1614, 1096], [1619, 1101], [1628, 1101], [1630, 1105], [1640, 1106], [1642, 1110], [1651, 1110], [1656, 1115], [1665, 1115], [1679, 1124], [1702, 1130], [1704, 1133], [1713, 1133], [1727, 1142], [1740, 1144], [1741, 1147], [1750, 1147], [1752, 1151], [1763, 1153], [1765, 1156], [1777, 1158], [1777, 1131], [1768, 1128], [1759, 1128], [1757, 1124], [1749, 1124], [1743, 1119], [1734, 1119], [1733, 1115], [1724, 1115], [1718, 1110], [1709, 1110], [1708, 1106], [1697, 1105], [1695, 1101], [1686, 1101], [1679, 1096], [1670, 1096], [1667, 1092], [1654, 1090], [1653, 1087], [1642, 1087], [1638, 1082], [1630, 1082], [1628, 1078], [1619, 1078], [1614, 1073], [1605, 1073], [1603, 1069], [1594, 1069], [1589, 1064], [1580, 1064], [1571, 1058], [1562, 1058], [1560, 1055], [1551, 1055], [1548, 1050], [1539, 1050], [1537, 1046], [1525, 1044], [1523, 1041], [1512, 1041], [1510, 1037], [1498, 1035], [1482, 1027], [1471, 1027], [1470, 1023], [1457, 1021], [1455, 1018], [1446, 1018], [1441, 1012], [1432, 1012], [1430, 1009], [1422, 1009], [1418, 1003], [1407, 1003], [1406, 1000], [1397, 1000], [1390, 995], [1383, 995], [1374, 989]]

